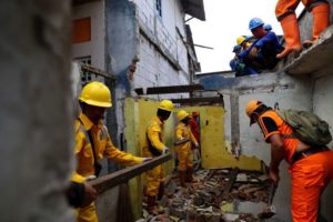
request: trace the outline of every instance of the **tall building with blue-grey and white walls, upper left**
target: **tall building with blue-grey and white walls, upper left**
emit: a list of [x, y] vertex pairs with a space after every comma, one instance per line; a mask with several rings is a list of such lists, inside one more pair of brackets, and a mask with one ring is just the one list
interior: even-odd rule
[[[72, 58], [117, 78], [107, 81], [113, 90], [107, 122], [115, 144], [125, 97], [137, 95], [135, 88], [189, 84], [200, 69], [185, 14], [205, 20], [203, 2], [73, 0]], [[103, 80], [89, 74], [82, 82], [94, 79]]]

